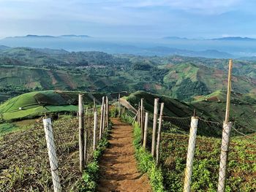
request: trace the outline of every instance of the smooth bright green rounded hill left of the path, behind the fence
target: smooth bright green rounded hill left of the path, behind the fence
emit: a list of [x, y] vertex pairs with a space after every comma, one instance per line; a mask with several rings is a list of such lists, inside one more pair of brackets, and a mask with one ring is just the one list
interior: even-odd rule
[[[84, 93], [85, 104], [99, 103], [101, 93]], [[33, 118], [48, 112], [78, 111], [78, 92], [36, 91], [16, 96], [0, 105], [2, 120]]]

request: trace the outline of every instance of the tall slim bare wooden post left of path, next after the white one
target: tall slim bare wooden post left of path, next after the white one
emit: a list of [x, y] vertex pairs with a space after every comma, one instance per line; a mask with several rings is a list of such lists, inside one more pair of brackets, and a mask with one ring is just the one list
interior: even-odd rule
[[79, 158], [80, 158], [80, 172], [85, 168], [84, 161], [84, 114], [83, 114], [83, 94], [78, 96], [78, 118], [79, 118]]

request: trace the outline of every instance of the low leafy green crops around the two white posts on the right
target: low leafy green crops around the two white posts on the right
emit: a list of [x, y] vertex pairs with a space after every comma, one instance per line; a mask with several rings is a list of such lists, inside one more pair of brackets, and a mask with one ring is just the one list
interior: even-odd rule
[[[255, 136], [232, 137], [227, 166], [226, 191], [255, 191]], [[189, 137], [182, 134], [162, 134], [160, 162], [163, 183], [168, 191], [183, 191], [184, 170]], [[197, 136], [192, 170], [192, 191], [217, 191], [221, 139]], [[246, 179], [245, 179], [246, 178]]]

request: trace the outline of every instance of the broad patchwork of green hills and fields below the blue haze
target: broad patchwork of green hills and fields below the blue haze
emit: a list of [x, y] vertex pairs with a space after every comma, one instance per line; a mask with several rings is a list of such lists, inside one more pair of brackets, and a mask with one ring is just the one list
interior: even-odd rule
[[[227, 60], [110, 55], [17, 47], [0, 50], [0, 101], [31, 91], [129, 93], [192, 101], [227, 86]], [[256, 93], [255, 64], [234, 61], [233, 91]]]

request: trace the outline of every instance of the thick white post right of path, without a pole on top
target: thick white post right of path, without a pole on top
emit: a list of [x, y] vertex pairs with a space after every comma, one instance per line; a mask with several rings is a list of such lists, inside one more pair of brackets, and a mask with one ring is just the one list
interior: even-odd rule
[[196, 117], [192, 117], [189, 132], [189, 146], [187, 149], [187, 164], [185, 170], [184, 192], [190, 192], [193, 158], [195, 155], [195, 139], [197, 137], [197, 123], [198, 119]]

